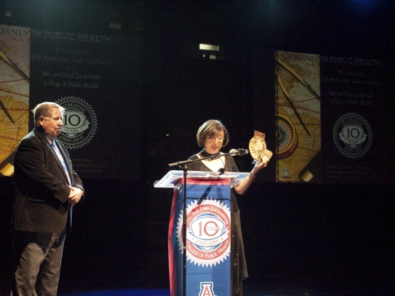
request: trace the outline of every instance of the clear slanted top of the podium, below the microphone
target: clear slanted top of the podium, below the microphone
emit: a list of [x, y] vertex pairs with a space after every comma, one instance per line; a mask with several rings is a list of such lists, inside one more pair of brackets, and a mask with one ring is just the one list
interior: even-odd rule
[[[235, 186], [249, 175], [249, 172], [225, 172], [224, 174], [220, 174], [219, 172], [188, 171], [188, 178], [231, 179], [231, 186]], [[175, 181], [180, 178], [184, 178], [184, 171], [171, 170], [165, 176], [163, 176], [161, 180], [155, 181], [154, 187], [174, 188]]]

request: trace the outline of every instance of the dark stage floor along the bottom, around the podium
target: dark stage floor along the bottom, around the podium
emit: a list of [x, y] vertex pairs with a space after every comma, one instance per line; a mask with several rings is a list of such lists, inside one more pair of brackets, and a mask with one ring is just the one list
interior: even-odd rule
[[[155, 275], [152, 275], [155, 277]], [[302, 277], [249, 278], [244, 281], [244, 296], [394, 296], [391, 279], [306, 280]], [[0, 295], [9, 295], [6, 281]], [[58, 296], [169, 296], [168, 287], [138, 286], [129, 281], [63, 281]]]

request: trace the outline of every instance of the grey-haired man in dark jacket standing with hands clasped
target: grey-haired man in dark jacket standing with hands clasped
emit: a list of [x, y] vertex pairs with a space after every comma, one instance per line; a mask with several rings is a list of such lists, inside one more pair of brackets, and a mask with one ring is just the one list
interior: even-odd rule
[[72, 206], [84, 196], [70, 155], [56, 141], [63, 113], [58, 104], [38, 104], [33, 109], [35, 129], [15, 153], [13, 296], [56, 295]]

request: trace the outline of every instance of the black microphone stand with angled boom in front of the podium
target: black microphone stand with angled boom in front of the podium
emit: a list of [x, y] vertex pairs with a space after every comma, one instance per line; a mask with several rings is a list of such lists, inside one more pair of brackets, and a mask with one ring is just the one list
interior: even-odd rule
[[[186, 296], [186, 176], [188, 175], [188, 167], [189, 163], [195, 163], [196, 161], [204, 161], [206, 159], [210, 159], [211, 161], [216, 158], [220, 158], [225, 155], [241, 155], [240, 152], [232, 152], [232, 153], [224, 153], [218, 154], [216, 156], [208, 156], [205, 158], [195, 159], [193, 161], [178, 161], [177, 163], [169, 163], [168, 167], [178, 166], [180, 169], [184, 171], [184, 208], [182, 210], [182, 249], [183, 249], [183, 257], [182, 257], [182, 295]], [[225, 169], [220, 169], [220, 174], [225, 173]]]

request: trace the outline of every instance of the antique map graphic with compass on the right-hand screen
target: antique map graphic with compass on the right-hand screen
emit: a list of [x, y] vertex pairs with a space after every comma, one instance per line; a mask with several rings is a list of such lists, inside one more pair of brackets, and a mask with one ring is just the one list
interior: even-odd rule
[[321, 180], [319, 55], [275, 52], [277, 182]]

